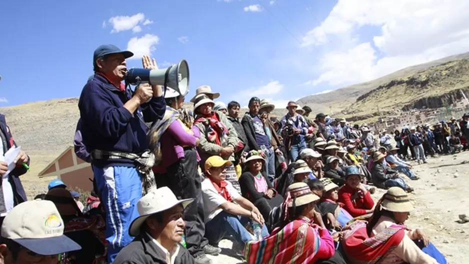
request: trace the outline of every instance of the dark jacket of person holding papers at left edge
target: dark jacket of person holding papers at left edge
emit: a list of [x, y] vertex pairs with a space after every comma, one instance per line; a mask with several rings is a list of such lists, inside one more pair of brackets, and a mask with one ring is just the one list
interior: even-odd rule
[[[14, 142], [13, 137], [11, 136], [10, 129], [6, 125], [5, 116], [3, 114], [0, 114], [0, 130], [0, 139], [3, 140], [3, 152], [6, 152], [13, 145], [16, 146], [16, 143]], [[27, 165], [29, 165], [29, 161], [30, 159], [28, 158]], [[11, 188], [13, 189], [14, 206], [16, 206], [18, 203], [27, 200], [26, 193], [24, 193], [23, 185], [21, 184], [21, 180], [19, 179], [19, 176], [26, 173], [26, 171], [27, 169], [24, 166], [18, 165], [8, 174], [8, 181], [10, 182]], [[3, 200], [3, 192], [0, 191], [0, 213], [5, 211], [6, 208], [5, 202]]]

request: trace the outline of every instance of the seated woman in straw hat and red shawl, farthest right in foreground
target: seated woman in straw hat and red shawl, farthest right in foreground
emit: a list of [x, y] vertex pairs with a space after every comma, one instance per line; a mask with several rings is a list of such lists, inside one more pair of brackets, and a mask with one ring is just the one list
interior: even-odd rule
[[342, 247], [350, 263], [446, 264], [423, 231], [404, 226], [413, 209], [404, 190], [390, 187], [376, 206], [368, 223], [357, 220], [343, 231]]

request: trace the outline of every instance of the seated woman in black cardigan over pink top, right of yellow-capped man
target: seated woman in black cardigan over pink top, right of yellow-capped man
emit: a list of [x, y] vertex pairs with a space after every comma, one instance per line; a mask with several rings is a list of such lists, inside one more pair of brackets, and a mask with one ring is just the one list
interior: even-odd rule
[[265, 161], [256, 150], [249, 151], [243, 162], [246, 171], [239, 177], [241, 194], [259, 209], [264, 219], [268, 219], [272, 207], [280, 205], [283, 198], [261, 171]]

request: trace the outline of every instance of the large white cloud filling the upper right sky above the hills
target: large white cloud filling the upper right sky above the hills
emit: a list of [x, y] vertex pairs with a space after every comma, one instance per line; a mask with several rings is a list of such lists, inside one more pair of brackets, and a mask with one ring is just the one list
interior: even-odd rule
[[[466, 52], [467, 8], [466, 0], [338, 0], [320, 25], [302, 38], [303, 47], [325, 49], [317, 63], [318, 76], [305, 83], [367, 81]], [[378, 32], [370, 35], [373, 27]]]

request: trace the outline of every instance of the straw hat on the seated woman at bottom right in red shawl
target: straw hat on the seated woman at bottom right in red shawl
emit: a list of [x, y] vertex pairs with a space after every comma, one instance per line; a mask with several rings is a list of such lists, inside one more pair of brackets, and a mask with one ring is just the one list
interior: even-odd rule
[[413, 210], [408, 194], [401, 187], [390, 187], [382, 196], [381, 207], [392, 212]]

